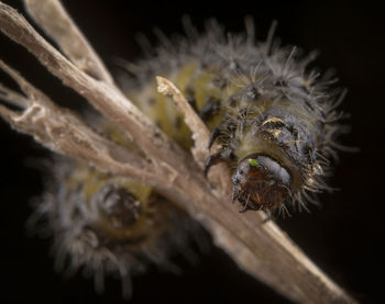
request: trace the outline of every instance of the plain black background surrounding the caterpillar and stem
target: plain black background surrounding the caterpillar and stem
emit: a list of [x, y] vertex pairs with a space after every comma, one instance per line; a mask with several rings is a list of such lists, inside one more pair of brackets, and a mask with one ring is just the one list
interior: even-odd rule
[[[19, 1], [6, 1], [23, 11]], [[321, 195], [322, 207], [311, 214], [294, 214], [277, 223], [330, 277], [363, 303], [384, 301], [384, 80], [385, 45], [382, 10], [353, 1], [231, 1], [205, 5], [195, 1], [180, 7], [158, 1], [64, 1], [108, 66], [116, 57], [134, 60], [140, 47], [138, 33], [153, 38], [158, 26], [166, 34], [182, 33], [180, 18], [189, 14], [199, 29], [215, 16], [229, 31], [243, 30], [243, 16], [254, 18], [258, 38], [265, 38], [273, 19], [283, 44], [295, 44], [306, 52], [319, 49], [316, 66], [334, 68], [340, 86], [349, 89], [341, 109], [351, 113], [352, 131], [341, 140], [358, 146], [356, 154], [341, 153], [330, 184], [340, 190]], [[267, 3], [266, 3], [267, 2]], [[55, 101], [76, 108], [84, 100], [64, 88], [29, 53], [0, 35], [0, 58], [22, 71]], [[1, 81], [11, 85], [1, 74]], [[96, 295], [92, 282], [80, 274], [72, 279], [53, 271], [50, 241], [28, 237], [25, 221], [29, 201], [42, 193], [42, 173], [31, 168], [33, 159], [47, 153], [24, 135], [0, 121], [0, 297], [24, 302], [67, 302], [87, 300], [110, 303], [120, 300], [118, 281], [108, 280], [107, 292]], [[180, 262], [179, 277], [152, 269], [134, 279], [132, 303], [197, 300], [244, 303], [287, 303], [274, 291], [237, 269], [221, 250], [212, 249], [201, 263]]]

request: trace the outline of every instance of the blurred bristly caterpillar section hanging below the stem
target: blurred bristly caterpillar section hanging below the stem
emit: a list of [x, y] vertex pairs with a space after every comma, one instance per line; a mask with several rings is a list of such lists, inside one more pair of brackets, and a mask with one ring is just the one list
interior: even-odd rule
[[118, 274], [128, 299], [131, 275], [148, 264], [178, 271], [174, 252], [195, 259], [188, 246], [191, 239], [202, 245], [201, 227], [151, 187], [84, 162], [58, 157], [54, 162], [48, 192], [29, 224], [53, 236], [58, 270], [85, 268], [98, 292], [106, 273]]

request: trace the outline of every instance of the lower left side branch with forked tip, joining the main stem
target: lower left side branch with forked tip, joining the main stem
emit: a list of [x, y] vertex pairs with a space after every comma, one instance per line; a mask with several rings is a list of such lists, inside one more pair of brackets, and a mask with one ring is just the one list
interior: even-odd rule
[[55, 105], [1, 60], [0, 69], [11, 76], [26, 94], [25, 98], [0, 85], [0, 99], [21, 109], [13, 111], [0, 105], [0, 116], [14, 130], [32, 135], [53, 151], [94, 164], [103, 171], [138, 180], [156, 178], [141, 157], [95, 133], [72, 112]]

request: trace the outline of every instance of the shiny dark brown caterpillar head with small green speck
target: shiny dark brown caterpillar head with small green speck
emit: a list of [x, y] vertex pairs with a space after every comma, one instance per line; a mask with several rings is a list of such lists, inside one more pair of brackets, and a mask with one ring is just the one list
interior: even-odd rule
[[290, 195], [292, 177], [279, 162], [268, 156], [251, 154], [241, 159], [232, 176], [233, 199], [244, 210], [272, 210]]

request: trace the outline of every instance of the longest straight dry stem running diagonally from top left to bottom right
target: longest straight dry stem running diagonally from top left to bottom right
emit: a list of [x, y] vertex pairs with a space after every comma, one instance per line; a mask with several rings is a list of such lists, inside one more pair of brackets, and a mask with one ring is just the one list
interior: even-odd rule
[[[51, 26], [50, 23], [41, 25]], [[274, 223], [262, 224], [263, 215], [257, 212], [240, 214], [231, 203], [230, 195], [218, 198], [198, 166], [194, 166], [191, 157], [144, 117], [114, 86], [82, 72], [44, 41], [22, 15], [3, 3], [0, 3], [0, 27], [10, 38], [35, 55], [66, 86], [75, 89], [100, 113], [119, 125], [151, 160], [145, 171], [157, 179], [148, 178], [146, 181], [201, 221], [212, 233], [216, 243], [244, 271], [298, 303], [354, 302], [311, 263]], [[48, 29], [46, 31], [50, 32]], [[53, 38], [59, 40], [56, 36]], [[9, 114], [2, 113], [6, 120]], [[18, 128], [18, 122], [13, 126]], [[38, 128], [29, 131], [31, 135], [38, 132]], [[98, 159], [94, 161], [99, 168], [113, 171], [109, 168], [110, 164]], [[129, 172], [120, 173], [130, 176]], [[228, 193], [229, 188], [223, 192]]]

